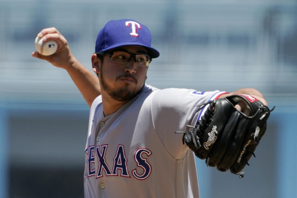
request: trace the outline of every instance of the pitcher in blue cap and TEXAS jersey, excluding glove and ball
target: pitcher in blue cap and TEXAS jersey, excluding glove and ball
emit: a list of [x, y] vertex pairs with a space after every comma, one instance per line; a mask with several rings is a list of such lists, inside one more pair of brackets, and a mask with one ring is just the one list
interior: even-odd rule
[[[57, 41], [58, 51], [32, 56], [66, 69], [91, 107], [85, 197], [199, 197], [195, 155], [183, 144], [185, 135], [175, 131], [189, 131], [203, 120], [203, 104], [220, 98], [245, 94], [267, 105], [251, 88], [226, 93], [146, 84], [149, 64], [159, 52], [151, 47], [149, 29], [135, 20], [109, 21], [98, 33], [91, 58], [97, 76], [74, 58], [58, 30], [46, 28], [38, 36]], [[252, 112], [243, 101], [234, 106], [243, 114]]]

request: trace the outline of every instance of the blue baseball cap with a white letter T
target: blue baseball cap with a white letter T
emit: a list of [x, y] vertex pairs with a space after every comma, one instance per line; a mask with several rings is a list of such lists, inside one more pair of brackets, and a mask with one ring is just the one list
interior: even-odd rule
[[151, 41], [151, 32], [145, 25], [131, 19], [112, 20], [98, 33], [95, 52], [104, 52], [124, 45], [140, 45], [148, 50], [151, 58], [157, 58], [160, 53], [151, 47]]

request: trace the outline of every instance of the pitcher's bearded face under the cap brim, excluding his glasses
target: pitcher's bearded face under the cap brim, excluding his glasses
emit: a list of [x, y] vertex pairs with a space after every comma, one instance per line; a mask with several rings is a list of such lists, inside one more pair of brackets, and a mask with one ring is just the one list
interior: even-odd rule
[[[144, 47], [137, 45], [122, 46], [112, 51], [116, 50], [133, 54], [147, 54], [147, 50]], [[105, 55], [99, 67], [98, 74], [102, 95], [106, 93], [114, 100], [129, 101], [144, 86], [147, 67], [137, 67], [134, 58], [131, 58], [127, 65], [119, 65], [113, 63], [110, 56]]]

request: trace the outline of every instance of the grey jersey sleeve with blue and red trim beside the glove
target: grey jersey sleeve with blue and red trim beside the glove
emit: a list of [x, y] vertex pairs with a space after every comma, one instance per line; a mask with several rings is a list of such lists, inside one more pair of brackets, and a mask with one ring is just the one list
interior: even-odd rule
[[152, 119], [157, 135], [166, 151], [176, 160], [185, 157], [188, 147], [183, 144], [183, 134], [175, 131], [189, 130], [200, 119], [204, 109], [200, 106], [226, 92], [200, 92], [192, 89], [169, 88], [157, 92], [152, 100]]

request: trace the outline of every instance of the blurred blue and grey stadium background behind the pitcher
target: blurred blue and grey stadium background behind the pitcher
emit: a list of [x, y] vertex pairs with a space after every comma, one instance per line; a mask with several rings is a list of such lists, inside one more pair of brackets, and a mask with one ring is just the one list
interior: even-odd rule
[[34, 39], [56, 27], [91, 70], [97, 33], [124, 18], [161, 53], [148, 84], [252, 87], [276, 106], [243, 179], [197, 159], [201, 197], [297, 197], [296, 1], [0, 0], [0, 198], [83, 197], [89, 107], [66, 71], [31, 57]]

